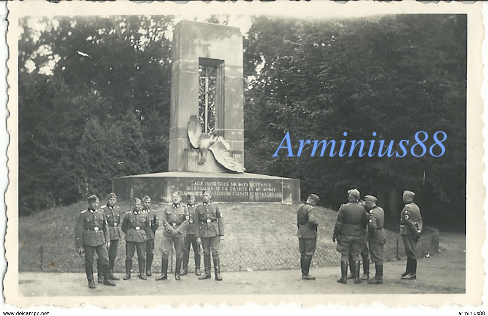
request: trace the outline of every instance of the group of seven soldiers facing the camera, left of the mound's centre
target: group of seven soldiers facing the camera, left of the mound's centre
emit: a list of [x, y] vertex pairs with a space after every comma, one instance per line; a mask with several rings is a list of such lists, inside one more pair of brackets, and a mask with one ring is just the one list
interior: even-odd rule
[[[81, 211], [75, 226], [75, 246], [80, 255], [85, 257], [85, 273], [88, 287], [96, 288], [93, 276], [95, 252], [98, 255], [98, 282], [115, 286], [119, 280], [113, 274], [114, 262], [117, 257], [119, 240], [125, 234], [125, 276], [131, 278], [132, 258], [137, 252], [139, 262], [139, 278], [146, 280], [151, 276], [151, 265], [154, 258], [154, 238], [160, 228], [164, 228], [161, 243], [162, 264], [161, 275], [156, 281], [168, 278], [167, 269], [169, 254], [175, 249], [176, 267], [175, 280], [188, 274], [190, 247], [195, 258], [195, 274], [199, 279], [211, 278], [211, 258], [213, 258], [215, 280], [222, 281], [220, 274], [219, 244], [224, 239], [224, 219], [219, 206], [211, 201], [209, 190], [202, 191], [203, 203], [195, 204], [195, 196], [187, 194], [187, 203], [181, 203], [180, 192], [171, 195], [172, 203], [164, 208], [161, 221], [156, 211], [151, 209], [151, 198], [144, 196], [142, 201], [135, 198], [132, 210], [122, 213], [116, 206], [117, 196], [110, 193], [107, 204], [98, 208], [99, 199], [96, 195], [88, 197], [88, 209]], [[203, 247], [204, 273], [200, 271], [200, 245]], [[183, 265], [183, 270], [182, 270]]]

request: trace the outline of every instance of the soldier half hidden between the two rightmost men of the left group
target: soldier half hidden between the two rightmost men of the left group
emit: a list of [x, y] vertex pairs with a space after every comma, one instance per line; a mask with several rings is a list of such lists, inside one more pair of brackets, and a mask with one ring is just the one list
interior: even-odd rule
[[188, 228], [186, 229], [186, 237], [184, 237], [183, 248], [183, 271], [182, 275], [188, 274], [188, 261], [190, 261], [190, 245], [193, 247], [193, 253], [195, 257], [195, 274], [202, 275], [200, 272], [200, 245], [197, 244], [197, 238], [195, 237], [195, 195], [188, 193], [186, 195], [188, 208]]

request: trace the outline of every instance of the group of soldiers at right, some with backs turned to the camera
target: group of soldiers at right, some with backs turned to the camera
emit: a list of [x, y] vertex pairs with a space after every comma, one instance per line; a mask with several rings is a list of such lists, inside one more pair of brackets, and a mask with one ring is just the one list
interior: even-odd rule
[[[354, 279], [354, 283], [368, 284], [383, 283], [383, 250], [386, 244], [384, 230], [385, 212], [376, 205], [377, 198], [366, 195], [360, 200], [357, 189], [347, 191], [348, 203], [341, 205], [334, 226], [332, 241], [337, 241], [337, 251], [341, 253], [341, 278], [339, 283], [347, 283], [347, 279]], [[403, 192], [405, 207], [400, 215], [400, 235], [402, 236], [405, 253], [407, 254], [407, 268], [401, 275], [402, 279], [416, 279], [417, 258], [415, 246], [422, 235], [423, 222], [419, 207], [413, 203], [415, 193]], [[310, 194], [297, 210], [298, 240], [300, 248], [300, 265], [302, 279], [314, 280], [309, 274], [310, 263], [317, 245], [317, 227], [314, 206], [320, 201], [316, 194]], [[368, 247], [369, 246], [369, 247]], [[364, 274], [360, 274], [359, 256], [363, 259]], [[375, 276], [369, 278], [369, 256], [375, 264]], [[347, 275], [349, 266], [351, 274]]]

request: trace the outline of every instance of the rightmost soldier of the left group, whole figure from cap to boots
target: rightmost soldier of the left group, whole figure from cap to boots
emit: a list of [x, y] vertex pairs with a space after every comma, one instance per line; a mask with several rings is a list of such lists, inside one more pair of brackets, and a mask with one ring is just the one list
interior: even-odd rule
[[205, 273], [199, 280], [209, 279], [210, 274], [210, 251], [212, 253], [215, 280], [222, 281], [220, 275], [219, 245], [224, 240], [224, 215], [219, 206], [211, 201], [212, 193], [210, 190], [203, 190], [203, 204], [197, 206], [195, 218], [198, 220], [195, 225], [195, 237], [197, 243], [203, 248], [203, 266]]

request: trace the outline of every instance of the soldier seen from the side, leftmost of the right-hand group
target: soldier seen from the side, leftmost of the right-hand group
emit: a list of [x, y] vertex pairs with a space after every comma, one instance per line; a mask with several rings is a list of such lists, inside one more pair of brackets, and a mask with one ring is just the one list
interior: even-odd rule
[[312, 257], [317, 247], [317, 227], [319, 223], [315, 219], [314, 206], [319, 203], [320, 198], [310, 194], [305, 204], [297, 209], [297, 237], [300, 248], [300, 267], [302, 268], [302, 280], [315, 280], [314, 276], [308, 274]]

